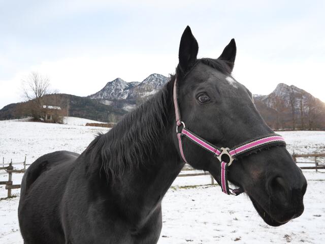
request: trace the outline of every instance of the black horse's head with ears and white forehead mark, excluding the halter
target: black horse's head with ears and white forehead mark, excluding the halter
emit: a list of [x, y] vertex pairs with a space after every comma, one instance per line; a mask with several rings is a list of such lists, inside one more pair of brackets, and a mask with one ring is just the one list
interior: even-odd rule
[[[218, 58], [198, 59], [198, 49], [198, 42], [187, 26], [181, 38], [176, 70], [182, 115], [182, 123], [179, 120], [177, 128], [186, 124], [190, 131], [219, 148], [231, 148], [274, 134], [256, 110], [252, 94], [231, 75], [236, 57], [235, 40], [231, 40]], [[183, 139], [180, 143], [179, 154], [192, 167], [209, 171], [220, 180], [220, 161], [216, 157], [191, 140]], [[176, 137], [175, 144], [179, 146]], [[271, 226], [297, 218], [304, 210], [307, 182], [285, 146], [249, 150], [229, 165], [228, 180], [243, 189], [258, 214]]]

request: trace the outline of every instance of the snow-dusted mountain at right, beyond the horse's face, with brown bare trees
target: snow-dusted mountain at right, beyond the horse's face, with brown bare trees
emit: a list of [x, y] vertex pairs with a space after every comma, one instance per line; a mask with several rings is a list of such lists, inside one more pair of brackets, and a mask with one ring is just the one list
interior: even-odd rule
[[269, 95], [254, 95], [254, 102], [273, 129], [325, 128], [325, 104], [295, 85], [279, 83]]

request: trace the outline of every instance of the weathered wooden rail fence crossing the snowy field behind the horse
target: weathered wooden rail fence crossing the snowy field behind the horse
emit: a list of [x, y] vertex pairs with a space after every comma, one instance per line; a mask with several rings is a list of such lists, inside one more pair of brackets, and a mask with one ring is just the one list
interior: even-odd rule
[[[293, 154], [293, 158], [297, 164], [314, 164], [314, 166], [304, 166], [300, 167], [301, 169], [315, 169], [317, 172], [318, 169], [325, 169], [325, 164], [319, 164], [319, 158], [325, 158], [325, 154]], [[313, 162], [297, 162], [297, 158], [314, 158]], [[23, 169], [14, 169], [13, 165], [17, 164], [23, 164]], [[12, 160], [9, 164], [9, 166], [4, 166], [4, 159], [3, 159], [3, 167], [0, 167], [0, 170], [6, 170], [6, 173], [8, 173], [8, 180], [7, 181], [0, 181], [0, 185], [6, 185], [6, 190], [8, 190], [8, 197], [11, 197], [11, 190], [12, 189], [18, 189], [20, 188], [20, 185], [12, 185], [12, 174], [13, 173], [24, 173], [26, 171], [26, 156], [24, 162], [20, 163], [13, 163]], [[195, 172], [191, 173], [189, 171], [198, 171], [196, 169], [193, 169], [189, 165], [185, 165], [185, 167], [182, 169], [181, 173], [178, 175], [178, 177], [188, 177], [188, 176], [199, 176], [199, 175], [210, 175], [211, 177], [211, 185], [214, 185], [214, 178], [209, 172]]]

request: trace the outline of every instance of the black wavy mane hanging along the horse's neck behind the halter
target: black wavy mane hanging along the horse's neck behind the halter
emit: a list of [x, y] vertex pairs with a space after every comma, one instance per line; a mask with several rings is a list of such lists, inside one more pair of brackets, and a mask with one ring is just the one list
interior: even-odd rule
[[[171, 108], [174, 75], [153, 97], [126, 114], [106, 134], [99, 134], [89, 144], [85, 153], [90, 154], [90, 164], [102, 161], [107, 179], [120, 178], [125, 169], [138, 167], [156, 152], [159, 135], [166, 127]], [[100, 157], [100, 158], [99, 158]]]

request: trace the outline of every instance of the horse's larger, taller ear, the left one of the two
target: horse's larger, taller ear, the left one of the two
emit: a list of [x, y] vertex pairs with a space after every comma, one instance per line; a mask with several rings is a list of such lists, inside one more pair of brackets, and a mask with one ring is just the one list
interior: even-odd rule
[[192, 35], [191, 28], [187, 25], [181, 38], [178, 53], [179, 67], [183, 73], [196, 62], [198, 50], [198, 42]]

